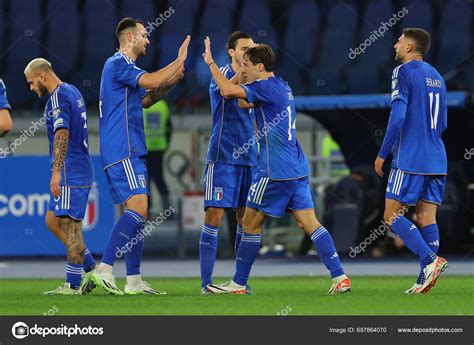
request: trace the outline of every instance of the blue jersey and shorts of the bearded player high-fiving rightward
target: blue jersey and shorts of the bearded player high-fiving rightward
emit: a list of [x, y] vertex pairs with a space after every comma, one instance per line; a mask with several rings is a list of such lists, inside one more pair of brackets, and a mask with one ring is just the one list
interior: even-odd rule
[[104, 65], [100, 82], [100, 155], [115, 204], [148, 194], [142, 98], [138, 81], [146, 71], [117, 52]]

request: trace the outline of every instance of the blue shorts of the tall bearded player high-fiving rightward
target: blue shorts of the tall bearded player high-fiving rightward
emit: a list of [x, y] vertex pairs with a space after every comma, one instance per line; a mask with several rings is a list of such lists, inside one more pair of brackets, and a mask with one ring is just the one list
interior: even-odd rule
[[111, 165], [105, 170], [112, 201], [116, 205], [134, 195], [148, 195], [148, 173], [144, 158], [132, 157]]

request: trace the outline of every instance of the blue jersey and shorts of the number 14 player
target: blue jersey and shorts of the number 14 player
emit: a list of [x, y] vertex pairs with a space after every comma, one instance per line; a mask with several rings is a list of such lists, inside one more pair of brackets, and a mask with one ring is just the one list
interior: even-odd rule
[[291, 210], [313, 209], [309, 165], [296, 138], [293, 92], [280, 77], [244, 84], [249, 103], [255, 104], [260, 157], [247, 206], [281, 217]]

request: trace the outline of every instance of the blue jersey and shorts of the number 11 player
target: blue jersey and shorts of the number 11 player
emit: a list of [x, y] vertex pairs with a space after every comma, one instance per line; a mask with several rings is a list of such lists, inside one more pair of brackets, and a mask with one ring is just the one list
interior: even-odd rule
[[[399, 102], [398, 104], [394, 104]], [[402, 111], [398, 113], [398, 105]], [[412, 60], [392, 74], [392, 114], [379, 156], [393, 149], [386, 197], [403, 204], [441, 204], [447, 174], [442, 133], [447, 128], [446, 86], [424, 61]]]

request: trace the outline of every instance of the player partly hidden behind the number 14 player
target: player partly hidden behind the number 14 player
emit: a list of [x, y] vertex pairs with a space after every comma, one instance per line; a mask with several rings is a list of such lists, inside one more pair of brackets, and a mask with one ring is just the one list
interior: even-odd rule
[[[242, 57], [254, 46], [246, 33], [233, 32], [227, 41], [227, 54], [231, 60], [220, 68], [227, 79], [236, 83], [240, 78]], [[235, 250], [242, 238], [242, 218], [247, 194], [252, 182], [251, 169], [257, 162], [257, 146], [248, 145], [240, 150], [254, 135], [253, 111], [242, 109], [237, 99], [225, 99], [215, 80], [209, 86], [212, 111], [212, 131], [207, 150], [204, 178], [204, 224], [199, 239], [201, 262], [201, 292], [212, 284], [212, 272], [217, 252], [217, 234], [226, 208], [237, 209]], [[245, 146], [247, 148], [247, 146]]]

